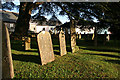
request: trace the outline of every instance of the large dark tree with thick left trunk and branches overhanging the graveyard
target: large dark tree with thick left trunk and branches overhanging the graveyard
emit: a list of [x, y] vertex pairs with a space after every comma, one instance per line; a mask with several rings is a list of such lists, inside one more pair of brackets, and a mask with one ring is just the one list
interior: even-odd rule
[[[116, 5], [115, 10], [110, 6], [113, 4]], [[19, 7], [19, 17], [15, 30], [16, 33], [22, 33], [21, 35], [27, 35], [31, 13], [35, 10], [39, 10], [39, 13], [41, 15], [55, 14], [56, 11], [59, 11], [61, 15], [68, 15], [69, 19], [75, 19], [85, 24], [86, 22], [90, 23], [92, 25], [91, 27], [96, 26], [96, 23], [93, 22], [93, 19], [96, 18], [99, 22], [97, 23], [98, 30], [108, 28], [109, 26], [111, 26], [112, 29], [112, 26], [114, 25], [113, 27], [116, 27], [115, 25], [118, 25], [119, 22], [118, 20], [117, 24], [113, 24], [114, 21], [112, 21], [113, 18], [115, 18], [115, 15], [119, 14], [119, 12], [117, 11], [119, 10], [119, 3], [21, 2]], [[115, 11], [117, 12], [115, 13]], [[109, 15], [109, 12], [112, 13], [112, 17]], [[108, 21], [109, 19], [111, 20]], [[116, 32], [115, 30], [112, 29], [112, 31]]]

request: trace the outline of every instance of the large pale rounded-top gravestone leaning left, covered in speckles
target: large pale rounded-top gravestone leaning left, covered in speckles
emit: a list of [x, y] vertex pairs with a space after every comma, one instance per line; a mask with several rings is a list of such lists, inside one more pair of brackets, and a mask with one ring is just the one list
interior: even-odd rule
[[42, 31], [37, 35], [38, 50], [41, 64], [47, 64], [55, 60], [51, 35], [47, 31]]

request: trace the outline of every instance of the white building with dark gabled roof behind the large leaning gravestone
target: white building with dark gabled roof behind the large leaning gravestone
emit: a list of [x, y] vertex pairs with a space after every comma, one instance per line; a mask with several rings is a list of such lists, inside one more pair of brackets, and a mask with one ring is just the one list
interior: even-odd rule
[[49, 20], [47, 20], [44, 16], [33, 16], [30, 20], [29, 32], [39, 33], [45, 28], [45, 31], [49, 31], [56, 26], [60, 26], [62, 23], [57, 19], [57, 17], [52, 16]]

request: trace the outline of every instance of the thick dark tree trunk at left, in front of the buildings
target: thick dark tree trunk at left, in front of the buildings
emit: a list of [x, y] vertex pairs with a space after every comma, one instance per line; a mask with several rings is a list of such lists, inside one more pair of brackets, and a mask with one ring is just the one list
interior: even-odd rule
[[15, 33], [17, 35], [27, 36], [29, 21], [31, 18], [30, 4], [32, 3], [20, 2], [19, 16], [15, 27]]

